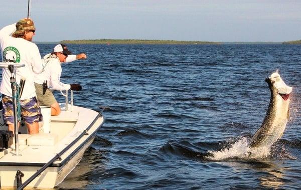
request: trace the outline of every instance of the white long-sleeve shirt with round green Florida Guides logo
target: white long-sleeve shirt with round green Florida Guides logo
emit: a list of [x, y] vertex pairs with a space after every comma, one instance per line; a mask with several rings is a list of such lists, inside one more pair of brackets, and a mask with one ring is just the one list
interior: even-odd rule
[[[21, 100], [30, 99], [36, 96], [34, 85], [34, 73], [41, 73], [43, 70], [43, 61], [41, 59], [39, 48], [36, 44], [23, 38], [14, 38], [11, 36], [16, 31], [16, 24], [9, 25], [0, 30], [0, 47], [3, 62], [13, 62], [24, 64], [25, 67], [15, 69], [16, 82], [20, 79], [26, 79]], [[7, 68], [2, 69], [2, 81], [0, 92], [12, 97], [11, 72]]]

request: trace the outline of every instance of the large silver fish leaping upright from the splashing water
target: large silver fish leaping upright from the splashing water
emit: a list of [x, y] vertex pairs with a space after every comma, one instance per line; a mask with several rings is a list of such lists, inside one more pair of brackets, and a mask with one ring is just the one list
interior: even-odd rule
[[270, 102], [261, 127], [248, 144], [250, 148], [270, 148], [283, 135], [289, 117], [292, 87], [283, 82], [278, 71], [266, 78], [265, 82], [271, 92]]

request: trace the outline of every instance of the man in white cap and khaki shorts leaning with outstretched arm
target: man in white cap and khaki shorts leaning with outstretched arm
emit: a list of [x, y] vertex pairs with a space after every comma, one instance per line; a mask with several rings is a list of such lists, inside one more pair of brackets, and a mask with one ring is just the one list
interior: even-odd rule
[[86, 58], [87, 56], [84, 53], [71, 55], [71, 52], [64, 44], [56, 45], [52, 53], [44, 56], [44, 71], [40, 74], [35, 74], [34, 82], [38, 101], [40, 102], [41, 106], [51, 107], [51, 115], [59, 115], [61, 113], [61, 108], [53, 93], [47, 87], [55, 88], [57, 90], [71, 89], [79, 91], [82, 89], [80, 84], [64, 84], [60, 82], [62, 74], [61, 63], [67, 63]]

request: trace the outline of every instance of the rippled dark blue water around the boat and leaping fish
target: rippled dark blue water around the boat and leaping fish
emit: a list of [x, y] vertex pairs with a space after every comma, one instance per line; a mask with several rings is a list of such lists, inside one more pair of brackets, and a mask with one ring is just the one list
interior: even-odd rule
[[[41, 54], [53, 46], [39, 45]], [[111, 109], [57, 188], [301, 188], [301, 46], [68, 48], [88, 56], [62, 65], [61, 81], [83, 86], [75, 104]], [[277, 69], [293, 87], [289, 122], [266, 156], [248, 159], [246, 145], [269, 103], [264, 79]]]

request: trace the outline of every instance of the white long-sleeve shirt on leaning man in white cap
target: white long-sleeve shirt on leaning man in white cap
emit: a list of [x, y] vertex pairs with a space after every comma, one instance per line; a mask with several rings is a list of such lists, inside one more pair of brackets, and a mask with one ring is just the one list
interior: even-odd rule
[[[43, 84], [47, 80], [49, 88], [55, 88], [57, 90], [70, 89], [69, 84], [61, 82], [62, 67], [61, 62], [55, 55], [47, 54], [44, 56], [44, 70], [40, 74], [35, 74], [34, 81], [37, 84]], [[76, 55], [68, 55], [66, 62], [76, 60]]]

